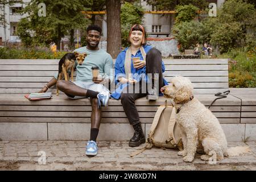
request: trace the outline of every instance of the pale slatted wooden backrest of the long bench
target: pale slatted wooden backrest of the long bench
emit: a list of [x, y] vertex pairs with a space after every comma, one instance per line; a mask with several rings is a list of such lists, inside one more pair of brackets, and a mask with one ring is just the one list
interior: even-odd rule
[[[59, 60], [0, 60], [0, 93], [38, 92], [58, 69]], [[213, 94], [229, 88], [227, 59], [166, 59], [164, 76], [188, 77], [196, 94]], [[55, 93], [55, 89], [51, 89]]]

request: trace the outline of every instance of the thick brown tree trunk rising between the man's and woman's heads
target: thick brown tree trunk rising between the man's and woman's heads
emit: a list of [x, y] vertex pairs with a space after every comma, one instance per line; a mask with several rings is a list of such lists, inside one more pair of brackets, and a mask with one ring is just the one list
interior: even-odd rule
[[107, 14], [107, 52], [117, 58], [121, 51], [121, 2], [119, 0], [106, 1]]

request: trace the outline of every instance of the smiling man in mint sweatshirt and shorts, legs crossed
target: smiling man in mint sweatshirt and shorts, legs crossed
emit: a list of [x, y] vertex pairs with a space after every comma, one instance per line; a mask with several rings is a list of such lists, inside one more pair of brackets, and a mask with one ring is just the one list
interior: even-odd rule
[[[90, 140], [86, 146], [86, 155], [97, 155], [96, 139], [101, 122], [101, 106], [108, 106], [109, 90], [102, 84], [110, 84], [113, 74], [113, 59], [106, 51], [100, 49], [101, 28], [91, 25], [86, 29], [86, 47], [76, 49], [76, 52], [87, 53], [84, 63], [77, 65], [76, 81], [57, 81], [57, 75], [52, 78], [40, 92], [46, 92], [55, 85], [69, 98], [90, 98], [92, 104]], [[74, 51], [74, 52], [75, 52]], [[92, 67], [98, 67], [100, 76], [92, 77]]]

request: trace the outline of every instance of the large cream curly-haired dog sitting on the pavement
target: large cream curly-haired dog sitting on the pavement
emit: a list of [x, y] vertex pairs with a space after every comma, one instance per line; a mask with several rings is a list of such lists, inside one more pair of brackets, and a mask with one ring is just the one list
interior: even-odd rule
[[209, 160], [209, 155], [214, 153], [217, 160], [222, 160], [224, 156], [249, 152], [249, 147], [228, 148], [220, 122], [209, 109], [193, 97], [193, 86], [188, 78], [172, 78], [169, 85], [161, 88], [161, 92], [164, 97], [171, 98], [175, 103], [176, 122], [183, 130], [184, 146], [184, 150], [178, 152], [178, 155], [184, 157], [184, 162], [192, 162], [197, 150], [204, 150], [206, 155], [201, 155], [202, 160]]

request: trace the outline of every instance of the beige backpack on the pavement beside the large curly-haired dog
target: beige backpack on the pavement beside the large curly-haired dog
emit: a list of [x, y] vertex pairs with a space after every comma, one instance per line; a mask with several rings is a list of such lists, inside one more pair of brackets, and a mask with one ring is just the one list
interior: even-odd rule
[[176, 124], [175, 114], [176, 109], [168, 106], [167, 101], [165, 105], [159, 106], [148, 133], [146, 147], [133, 152], [130, 156], [138, 155], [152, 146], [183, 150], [181, 130]]

